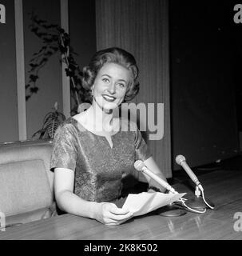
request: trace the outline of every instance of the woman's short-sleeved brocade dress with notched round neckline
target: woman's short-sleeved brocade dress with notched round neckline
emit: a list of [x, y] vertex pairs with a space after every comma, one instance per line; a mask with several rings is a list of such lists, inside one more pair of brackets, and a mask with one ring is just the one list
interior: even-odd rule
[[111, 136], [113, 147], [105, 136], [86, 130], [74, 118], [66, 119], [58, 127], [50, 168], [73, 170], [73, 191], [80, 198], [94, 202], [117, 200], [121, 197], [123, 179], [134, 171], [134, 162], [151, 156], [136, 124], [125, 122], [128, 129]]

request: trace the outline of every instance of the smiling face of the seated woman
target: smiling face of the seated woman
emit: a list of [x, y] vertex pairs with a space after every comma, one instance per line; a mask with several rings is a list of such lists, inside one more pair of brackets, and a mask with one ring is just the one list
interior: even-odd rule
[[131, 73], [115, 63], [105, 63], [93, 83], [93, 99], [102, 110], [113, 110], [123, 102]]

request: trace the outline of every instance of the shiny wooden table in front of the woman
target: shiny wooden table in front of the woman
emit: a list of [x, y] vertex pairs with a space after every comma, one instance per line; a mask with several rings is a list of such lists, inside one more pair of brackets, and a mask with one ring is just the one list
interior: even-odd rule
[[[205, 196], [215, 205], [204, 214], [188, 212], [179, 217], [164, 217], [156, 211], [132, 218], [120, 226], [105, 226], [93, 219], [63, 214], [0, 231], [3, 239], [81, 239], [81, 240], [170, 240], [241, 239], [236, 231], [236, 213], [242, 214], [242, 171], [216, 170], [200, 176]], [[194, 196], [191, 182], [176, 184], [178, 192]], [[241, 226], [241, 224], [240, 224]]]

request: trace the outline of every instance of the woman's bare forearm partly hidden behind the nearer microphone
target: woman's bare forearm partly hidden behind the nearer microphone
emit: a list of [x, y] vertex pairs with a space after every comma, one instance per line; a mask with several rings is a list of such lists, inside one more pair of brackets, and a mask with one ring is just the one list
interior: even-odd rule
[[[145, 166], [151, 170], [154, 174], [157, 174], [160, 178], [162, 178], [165, 182], [167, 182], [165, 175], [162, 173], [161, 169], [157, 166], [157, 163], [153, 159], [153, 157], [148, 158], [144, 161]], [[161, 192], [165, 192], [165, 187], [161, 186], [159, 183], [150, 178], [147, 174], [144, 174], [147, 182], [149, 183], [149, 187], [157, 187], [161, 190]]]

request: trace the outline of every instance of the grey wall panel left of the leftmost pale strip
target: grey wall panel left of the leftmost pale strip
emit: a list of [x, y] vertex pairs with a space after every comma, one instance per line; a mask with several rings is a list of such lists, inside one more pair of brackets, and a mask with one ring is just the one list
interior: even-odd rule
[[18, 140], [14, 0], [1, 0], [6, 24], [0, 23], [0, 142]]

